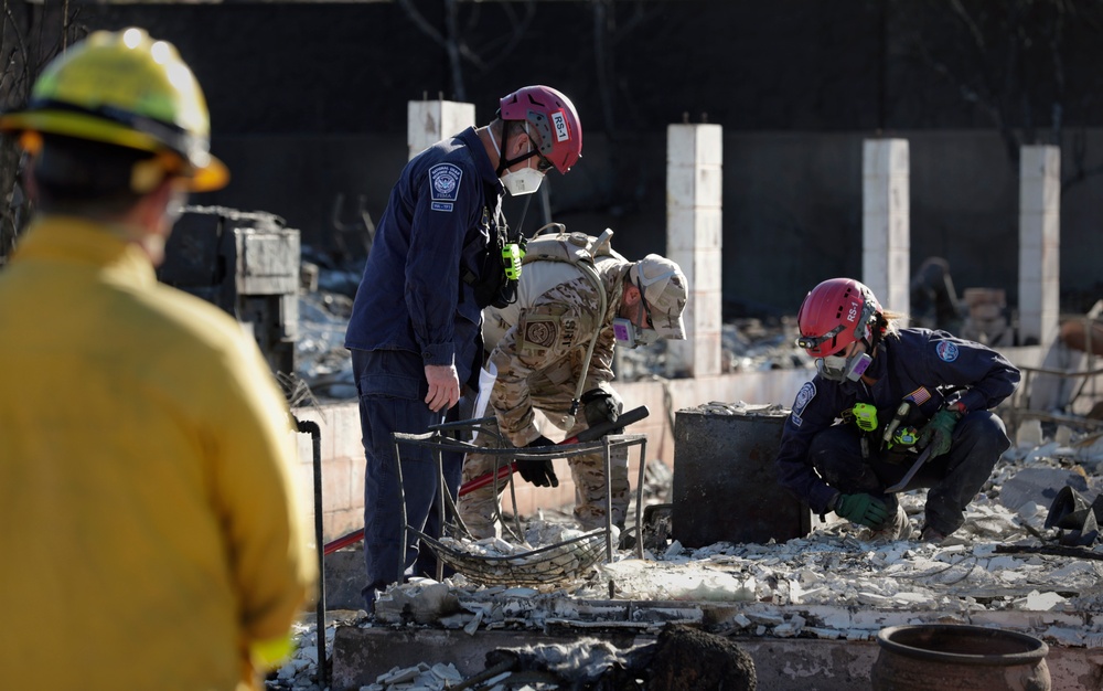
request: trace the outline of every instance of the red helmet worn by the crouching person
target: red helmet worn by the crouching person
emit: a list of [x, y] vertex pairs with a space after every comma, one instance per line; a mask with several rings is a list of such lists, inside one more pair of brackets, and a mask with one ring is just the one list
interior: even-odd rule
[[871, 325], [881, 306], [874, 291], [853, 278], [831, 278], [808, 291], [796, 325], [796, 344], [813, 358], [826, 358], [850, 343], [872, 336]]

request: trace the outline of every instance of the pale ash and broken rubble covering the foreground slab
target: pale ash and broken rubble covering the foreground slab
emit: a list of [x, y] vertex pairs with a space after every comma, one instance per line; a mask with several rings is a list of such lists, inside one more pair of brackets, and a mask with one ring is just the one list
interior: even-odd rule
[[[737, 640], [870, 641], [886, 626], [938, 621], [1103, 648], [1103, 544], [1096, 539], [1064, 548], [1071, 552], [1046, 553], [1062, 532], [1047, 527], [1062, 488], [1088, 502], [1101, 496], [1103, 435], [1058, 428], [1053, 437], [1024, 426], [968, 508], [965, 525], [942, 544], [870, 541], [866, 529], [829, 517], [814, 519], [808, 535], [782, 543], [720, 542], [689, 550], [667, 540], [642, 560], [634, 550], [617, 550], [611, 563], [599, 562], [565, 585], [482, 585], [462, 573], [442, 583], [396, 585], [375, 616], [334, 617], [326, 638], [332, 641], [336, 626], [416, 626], [469, 636], [493, 630], [658, 636], [673, 623]], [[914, 525], [923, 499], [923, 490], [901, 496]], [[296, 657], [269, 689], [315, 688], [315, 635], [310, 626], [301, 629]], [[425, 667], [416, 673], [393, 670], [365, 688], [452, 688], [432, 663]], [[441, 685], [430, 684], [427, 674]], [[411, 683], [415, 679], [421, 681]]]

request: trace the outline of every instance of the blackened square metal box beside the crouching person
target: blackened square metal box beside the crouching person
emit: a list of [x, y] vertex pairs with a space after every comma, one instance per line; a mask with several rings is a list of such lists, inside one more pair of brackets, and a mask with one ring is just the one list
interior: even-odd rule
[[803, 538], [812, 513], [778, 483], [784, 415], [678, 411], [671, 530], [687, 548]]

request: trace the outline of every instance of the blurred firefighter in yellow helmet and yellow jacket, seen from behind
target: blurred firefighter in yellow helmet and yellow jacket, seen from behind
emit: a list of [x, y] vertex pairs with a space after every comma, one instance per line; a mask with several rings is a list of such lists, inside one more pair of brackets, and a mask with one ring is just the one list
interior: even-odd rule
[[36, 205], [0, 269], [4, 684], [258, 689], [315, 574], [256, 343], [154, 274], [186, 193], [228, 180], [200, 86], [96, 32], [0, 130]]

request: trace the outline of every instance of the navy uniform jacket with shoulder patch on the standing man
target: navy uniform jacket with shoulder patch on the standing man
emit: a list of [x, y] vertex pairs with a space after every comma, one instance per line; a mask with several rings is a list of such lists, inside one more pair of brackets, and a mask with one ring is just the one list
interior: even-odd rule
[[478, 276], [504, 192], [473, 128], [408, 162], [377, 224], [345, 348], [408, 351], [454, 364], [467, 381], [481, 363], [482, 316], [461, 276]]

